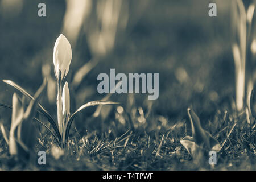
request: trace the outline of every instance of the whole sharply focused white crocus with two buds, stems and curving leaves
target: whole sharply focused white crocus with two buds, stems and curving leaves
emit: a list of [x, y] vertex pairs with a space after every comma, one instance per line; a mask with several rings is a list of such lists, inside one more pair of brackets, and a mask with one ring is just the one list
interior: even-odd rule
[[[67, 82], [67, 74], [69, 71], [69, 65], [71, 64], [72, 59], [72, 49], [68, 39], [63, 35], [60, 34], [59, 38], [57, 38], [54, 46], [53, 51], [53, 64], [54, 64], [54, 72], [55, 77], [57, 80], [57, 125], [56, 122], [53, 120], [52, 116], [49, 112], [38, 103], [39, 109], [37, 110], [38, 113], [44, 115], [47, 118], [47, 121], [51, 124], [54, 132], [49, 128], [47, 125], [44, 125], [38, 118], [34, 117], [34, 120], [41, 123], [44, 127], [46, 127], [53, 137], [57, 140], [60, 147], [65, 147], [68, 142], [68, 135], [71, 129], [71, 124], [73, 119], [75, 118], [76, 114], [79, 111], [85, 109], [89, 106], [95, 105], [118, 105], [118, 102], [112, 101], [91, 101], [88, 102], [79, 109], [75, 111], [75, 113], [70, 114], [70, 96], [69, 96], [69, 88]], [[31, 100], [35, 101], [36, 98], [32, 97], [25, 89], [21, 86], [15, 84], [11, 80], [3, 80], [6, 84], [13, 86], [14, 88], [18, 89], [22, 92], [25, 96], [30, 98]], [[0, 104], [0, 106], [9, 107], [6, 104]], [[24, 134], [25, 135], [25, 134]], [[27, 134], [26, 134], [27, 135]]]

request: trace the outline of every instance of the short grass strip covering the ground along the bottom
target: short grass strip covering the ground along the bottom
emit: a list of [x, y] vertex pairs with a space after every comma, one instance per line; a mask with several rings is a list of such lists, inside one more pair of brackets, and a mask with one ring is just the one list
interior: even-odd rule
[[[117, 112], [117, 111], [116, 111]], [[188, 119], [186, 119], [188, 120]], [[237, 125], [232, 130], [233, 123]], [[118, 124], [118, 118], [114, 121]], [[126, 121], [128, 122], [128, 121]], [[148, 131], [143, 125], [137, 129], [123, 127], [122, 132], [112, 125], [109, 131], [87, 131], [79, 134], [75, 128], [68, 147], [57, 149], [54, 139], [48, 132], [41, 133], [35, 151], [47, 153], [47, 165], [39, 166], [37, 158], [31, 159], [27, 166], [15, 163], [7, 152], [7, 145], [1, 137], [0, 168], [32, 170], [255, 170], [255, 122], [252, 129], [246, 122], [245, 114], [236, 117], [236, 113], [218, 111], [214, 121], [205, 125], [205, 129], [224, 147], [217, 154], [217, 165], [210, 166], [208, 157], [193, 160], [180, 144], [180, 139], [191, 131], [188, 122], [180, 121], [176, 125], [158, 125]], [[251, 125], [253, 126], [253, 125]], [[113, 131], [120, 131], [115, 137]], [[127, 130], [127, 131], [125, 131]], [[56, 150], [56, 151], [53, 151]], [[60, 152], [63, 150], [63, 152]], [[60, 155], [58, 159], [58, 155]]]

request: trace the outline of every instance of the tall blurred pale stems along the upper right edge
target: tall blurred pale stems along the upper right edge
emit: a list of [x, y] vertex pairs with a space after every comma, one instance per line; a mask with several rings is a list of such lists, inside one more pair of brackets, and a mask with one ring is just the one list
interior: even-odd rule
[[232, 51], [236, 73], [236, 107], [250, 110], [250, 95], [255, 76], [253, 59], [256, 56], [255, 39], [256, 1], [232, 1]]

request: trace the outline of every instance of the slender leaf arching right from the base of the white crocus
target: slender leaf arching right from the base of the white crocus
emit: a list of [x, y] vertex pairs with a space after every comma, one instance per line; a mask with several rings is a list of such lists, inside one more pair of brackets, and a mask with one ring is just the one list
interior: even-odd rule
[[79, 109], [77, 109], [75, 111], [75, 113], [73, 113], [71, 115], [71, 117], [69, 118], [69, 121], [66, 123], [66, 134], [65, 134], [65, 141], [67, 142], [68, 140], [68, 134], [69, 134], [69, 130], [70, 130], [70, 127], [71, 127], [71, 124], [73, 122], [73, 119], [75, 118], [76, 114], [85, 109], [86, 107], [90, 107], [90, 106], [96, 106], [96, 105], [119, 105], [120, 103], [119, 102], [112, 102], [112, 101], [91, 101], [91, 102], [88, 102], [84, 105], [82, 105], [81, 107], [79, 107]]

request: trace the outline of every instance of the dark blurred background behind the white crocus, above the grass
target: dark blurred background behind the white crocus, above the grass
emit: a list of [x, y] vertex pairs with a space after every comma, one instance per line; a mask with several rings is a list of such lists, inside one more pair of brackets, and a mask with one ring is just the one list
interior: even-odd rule
[[[38, 16], [41, 2], [46, 4], [46, 17]], [[217, 4], [217, 17], [208, 15], [210, 2]], [[181, 121], [187, 117], [187, 107], [193, 105], [207, 121], [216, 110], [228, 109], [234, 101], [230, 3], [0, 0], [0, 80], [13, 80], [34, 94], [47, 77], [48, 92], [42, 104], [54, 115], [52, 54], [62, 33], [72, 46], [68, 73], [72, 111], [85, 102], [104, 98], [106, 94], [97, 93], [97, 76], [109, 75], [110, 68], [115, 68], [115, 73], [159, 73], [159, 98], [149, 101], [147, 94], [114, 94], [107, 96], [109, 100], [136, 107], [135, 113], [150, 111], [151, 118], [166, 122]], [[0, 89], [0, 101], [11, 105], [14, 89], [3, 82]], [[116, 108], [104, 108], [109, 110], [106, 115], [110, 120], [116, 117], [111, 114]], [[82, 122], [88, 129], [86, 119], [95, 110], [79, 114], [76, 125]], [[0, 109], [0, 117], [7, 123], [10, 114], [6, 113], [11, 111]], [[101, 117], [106, 118], [104, 114]], [[100, 122], [96, 117], [91, 121]]]

